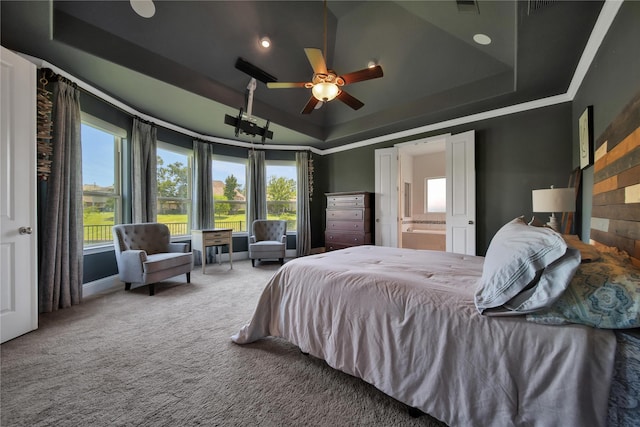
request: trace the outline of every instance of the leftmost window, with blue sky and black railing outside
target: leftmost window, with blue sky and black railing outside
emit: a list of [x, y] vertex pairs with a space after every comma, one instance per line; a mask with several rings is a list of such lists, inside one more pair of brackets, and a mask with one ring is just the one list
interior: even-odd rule
[[84, 247], [113, 242], [122, 213], [120, 163], [123, 129], [82, 113], [82, 214]]

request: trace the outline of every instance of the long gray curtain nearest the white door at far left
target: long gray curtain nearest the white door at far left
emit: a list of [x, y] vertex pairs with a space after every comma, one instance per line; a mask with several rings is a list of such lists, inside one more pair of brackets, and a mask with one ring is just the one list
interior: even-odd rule
[[80, 91], [54, 83], [53, 158], [44, 201], [38, 310], [67, 308], [82, 301], [82, 142]]

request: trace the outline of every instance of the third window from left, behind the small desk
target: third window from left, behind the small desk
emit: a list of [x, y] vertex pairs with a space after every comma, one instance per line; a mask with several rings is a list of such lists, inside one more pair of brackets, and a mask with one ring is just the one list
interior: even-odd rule
[[215, 226], [247, 231], [247, 161], [214, 155], [211, 163]]

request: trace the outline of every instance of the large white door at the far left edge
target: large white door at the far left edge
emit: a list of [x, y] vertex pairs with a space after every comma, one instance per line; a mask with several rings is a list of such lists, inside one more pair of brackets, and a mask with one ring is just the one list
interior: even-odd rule
[[0, 342], [38, 327], [36, 67], [0, 47]]

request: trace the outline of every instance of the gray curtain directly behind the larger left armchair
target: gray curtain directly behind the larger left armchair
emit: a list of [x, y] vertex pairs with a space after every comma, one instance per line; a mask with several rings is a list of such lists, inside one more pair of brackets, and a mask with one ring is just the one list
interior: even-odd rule
[[157, 129], [137, 117], [131, 132], [133, 222], [156, 221], [158, 207]]

